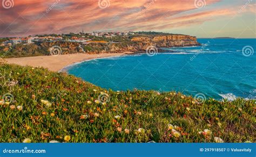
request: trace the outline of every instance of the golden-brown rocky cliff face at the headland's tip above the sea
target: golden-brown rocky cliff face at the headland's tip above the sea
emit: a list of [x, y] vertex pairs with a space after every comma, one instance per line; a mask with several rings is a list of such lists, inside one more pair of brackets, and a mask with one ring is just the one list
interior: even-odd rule
[[131, 41], [147, 43], [156, 47], [198, 46], [197, 37], [190, 35], [156, 35], [154, 37], [133, 37]]

